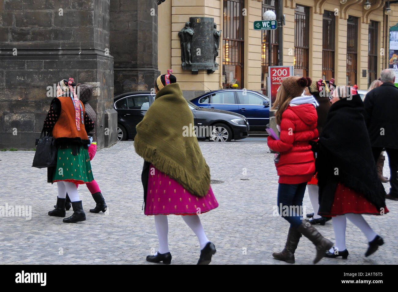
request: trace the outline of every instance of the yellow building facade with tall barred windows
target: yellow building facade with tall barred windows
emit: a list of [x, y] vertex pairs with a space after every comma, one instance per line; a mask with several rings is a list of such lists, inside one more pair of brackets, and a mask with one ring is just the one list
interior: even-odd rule
[[[388, 68], [388, 33], [398, 22], [398, 5], [390, 5], [386, 15], [385, 0], [370, 0], [369, 9], [365, 9], [366, 0], [279, 1], [285, 16], [283, 42], [278, 41], [276, 30], [254, 30], [254, 21], [262, 20], [267, 10], [275, 11], [277, 1], [166, 0], [158, 9], [160, 72], [172, 69], [189, 100], [232, 83], [265, 94], [269, 61], [294, 66], [296, 75], [333, 77], [337, 85], [357, 84], [361, 90]], [[213, 74], [182, 69], [178, 32], [193, 16], [214, 18], [217, 30], [222, 30], [216, 59], [220, 65]], [[282, 18], [279, 15], [277, 20]]]

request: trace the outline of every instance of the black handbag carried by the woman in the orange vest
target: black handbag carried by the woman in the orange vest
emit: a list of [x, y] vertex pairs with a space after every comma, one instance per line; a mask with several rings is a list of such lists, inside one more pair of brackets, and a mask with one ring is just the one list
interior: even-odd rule
[[58, 149], [55, 146], [55, 138], [43, 127], [40, 138], [36, 139], [36, 153], [33, 158], [32, 167], [56, 167], [57, 166]]

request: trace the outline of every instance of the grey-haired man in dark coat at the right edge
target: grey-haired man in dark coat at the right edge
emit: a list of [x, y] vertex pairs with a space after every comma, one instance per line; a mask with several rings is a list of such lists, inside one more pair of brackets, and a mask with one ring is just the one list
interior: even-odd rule
[[383, 84], [366, 94], [364, 116], [375, 161], [383, 148], [388, 155], [391, 188], [386, 198], [398, 201], [398, 88], [394, 86], [394, 71], [384, 69], [380, 80]]

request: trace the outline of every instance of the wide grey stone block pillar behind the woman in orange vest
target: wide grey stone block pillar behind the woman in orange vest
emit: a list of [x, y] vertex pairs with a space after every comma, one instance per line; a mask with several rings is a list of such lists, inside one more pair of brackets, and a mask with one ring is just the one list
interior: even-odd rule
[[109, 0], [0, 0], [0, 148], [35, 147], [69, 77], [94, 86], [98, 147], [116, 143]]

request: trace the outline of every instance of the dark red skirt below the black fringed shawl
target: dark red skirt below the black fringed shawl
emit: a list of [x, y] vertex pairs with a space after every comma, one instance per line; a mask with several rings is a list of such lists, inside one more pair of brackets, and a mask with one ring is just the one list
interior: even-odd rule
[[339, 183], [334, 194], [334, 201], [330, 214], [319, 214], [325, 217], [334, 217], [344, 214], [369, 214], [384, 215], [388, 213], [386, 206], [377, 210], [376, 206], [365, 199], [364, 196]]

